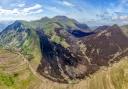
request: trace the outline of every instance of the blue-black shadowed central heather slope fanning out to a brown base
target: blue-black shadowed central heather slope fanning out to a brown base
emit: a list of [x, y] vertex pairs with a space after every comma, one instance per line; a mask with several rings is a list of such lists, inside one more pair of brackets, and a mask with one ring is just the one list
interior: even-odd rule
[[65, 81], [65, 79], [82, 78], [86, 72], [86, 61], [73, 55], [70, 50], [60, 44], [51, 42], [41, 31], [37, 31], [40, 38], [42, 61], [38, 72], [54, 81]]

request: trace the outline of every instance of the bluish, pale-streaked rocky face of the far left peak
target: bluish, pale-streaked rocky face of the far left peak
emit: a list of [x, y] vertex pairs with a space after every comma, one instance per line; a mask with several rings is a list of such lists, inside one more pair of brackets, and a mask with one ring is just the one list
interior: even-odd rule
[[4, 47], [18, 47], [27, 38], [27, 30], [16, 21], [0, 33], [0, 44]]

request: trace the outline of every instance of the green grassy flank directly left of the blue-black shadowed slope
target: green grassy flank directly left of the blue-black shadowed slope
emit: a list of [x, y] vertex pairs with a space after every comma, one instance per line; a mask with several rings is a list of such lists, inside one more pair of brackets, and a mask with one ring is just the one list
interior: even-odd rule
[[21, 46], [21, 53], [32, 63], [36, 69], [41, 59], [40, 44], [38, 35], [34, 30], [28, 29], [27, 39]]

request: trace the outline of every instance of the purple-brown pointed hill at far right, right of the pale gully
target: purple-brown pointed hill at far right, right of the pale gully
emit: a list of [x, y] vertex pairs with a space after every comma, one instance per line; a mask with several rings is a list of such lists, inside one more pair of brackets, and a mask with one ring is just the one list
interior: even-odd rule
[[86, 55], [92, 64], [108, 65], [116, 57], [128, 52], [128, 38], [114, 25], [84, 40]]

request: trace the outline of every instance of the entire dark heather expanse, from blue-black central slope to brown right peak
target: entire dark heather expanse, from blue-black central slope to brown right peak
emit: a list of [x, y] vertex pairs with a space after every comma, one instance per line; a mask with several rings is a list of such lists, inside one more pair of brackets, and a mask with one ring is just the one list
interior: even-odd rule
[[128, 55], [128, 38], [117, 25], [81, 38], [63, 28], [55, 32], [70, 47], [52, 42], [41, 30], [37, 32], [43, 55], [38, 72], [54, 81], [83, 78]]

